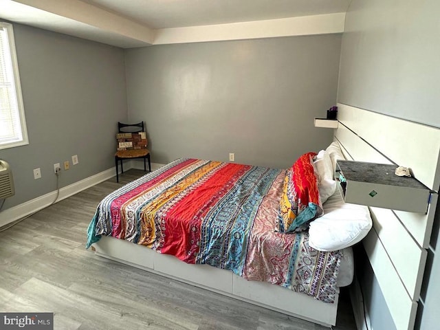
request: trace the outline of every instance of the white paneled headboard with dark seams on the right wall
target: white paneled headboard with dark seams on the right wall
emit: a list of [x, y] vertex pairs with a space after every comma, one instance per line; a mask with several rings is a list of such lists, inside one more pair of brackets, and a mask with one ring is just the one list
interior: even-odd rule
[[[409, 167], [439, 190], [440, 129], [345, 104], [338, 104], [338, 120], [335, 140], [347, 159]], [[363, 245], [397, 329], [415, 324], [436, 206], [432, 193], [427, 214], [370, 208], [373, 229]]]

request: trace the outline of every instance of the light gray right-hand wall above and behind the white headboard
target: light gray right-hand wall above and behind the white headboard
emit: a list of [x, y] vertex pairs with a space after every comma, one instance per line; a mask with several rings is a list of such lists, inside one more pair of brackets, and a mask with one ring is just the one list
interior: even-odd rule
[[[440, 127], [439, 12], [437, 0], [353, 0], [342, 38], [338, 102]], [[439, 212], [434, 222], [438, 228]], [[438, 232], [434, 228], [428, 251], [420, 329], [437, 329], [440, 322]], [[371, 267], [359, 263], [358, 272], [374, 328], [395, 329]]]

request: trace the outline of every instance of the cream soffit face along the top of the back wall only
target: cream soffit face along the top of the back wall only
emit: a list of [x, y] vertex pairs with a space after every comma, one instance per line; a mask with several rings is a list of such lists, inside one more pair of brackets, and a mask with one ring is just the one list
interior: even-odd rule
[[342, 33], [344, 23], [345, 13], [338, 12], [288, 19], [159, 29], [155, 31], [153, 45]]

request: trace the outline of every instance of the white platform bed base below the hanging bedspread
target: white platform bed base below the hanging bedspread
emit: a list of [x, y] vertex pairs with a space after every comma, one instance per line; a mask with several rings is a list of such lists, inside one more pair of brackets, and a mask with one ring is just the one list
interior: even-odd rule
[[166, 254], [159, 254], [142, 245], [102, 236], [92, 245], [98, 256], [153, 272], [167, 278], [195, 285], [247, 303], [279, 311], [289, 316], [331, 327], [336, 325], [338, 298], [335, 303], [322, 303], [305, 294], [298, 294], [270, 283], [247, 281], [240, 276], [209, 265], [188, 265]]

